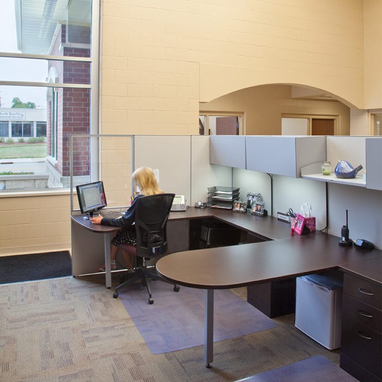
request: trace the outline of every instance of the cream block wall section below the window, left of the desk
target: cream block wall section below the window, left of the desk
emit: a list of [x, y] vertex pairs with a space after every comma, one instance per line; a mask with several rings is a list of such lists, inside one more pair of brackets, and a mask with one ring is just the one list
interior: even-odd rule
[[0, 198], [0, 256], [70, 248], [68, 192]]

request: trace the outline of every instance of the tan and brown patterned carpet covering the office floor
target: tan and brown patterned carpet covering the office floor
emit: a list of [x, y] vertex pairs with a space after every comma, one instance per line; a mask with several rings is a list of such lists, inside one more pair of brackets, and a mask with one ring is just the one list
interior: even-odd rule
[[[158, 302], [155, 290], [147, 306]], [[233, 290], [244, 300], [246, 291]], [[103, 274], [0, 285], [0, 381], [233, 382], [315, 355], [339, 364], [339, 350], [300, 332], [294, 314], [274, 318], [272, 329], [215, 342], [211, 369], [202, 346], [152, 354], [112, 295]]]

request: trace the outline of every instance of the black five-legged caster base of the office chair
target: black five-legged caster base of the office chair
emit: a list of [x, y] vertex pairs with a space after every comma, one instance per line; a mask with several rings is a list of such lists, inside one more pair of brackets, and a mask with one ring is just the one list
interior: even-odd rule
[[[131, 247], [129, 245], [126, 245], [126, 244], [119, 244], [119, 248], [121, 248], [122, 250], [126, 250], [127, 248], [126, 247]], [[134, 247], [133, 247], [134, 248]], [[129, 248], [130, 249], [130, 248]], [[131, 249], [130, 249], [131, 250]], [[146, 289], [147, 289], [147, 292], [149, 294], [149, 304], [153, 304], [154, 303], [154, 298], [152, 297], [152, 294], [151, 294], [151, 288], [150, 288], [150, 283], [149, 283], [149, 279], [151, 280], [159, 280], [159, 281], [163, 281], [167, 284], [171, 284], [173, 285], [173, 289], [174, 291], [178, 292], [180, 287], [177, 285], [177, 284], [173, 284], [173, 283], [170, 283], [169, 281], [163, 279], [162, 277], [160, 277], [157, 272], [155, 271], [155, 267], [148, 267], [146, 266], [146, 259], [143, 258], [143, 265], [142, 266], [139, 266], [137, 268], [135, 268], [135, 272], [132, 273], [132, 274], [129, 274], [129, 278], [124, 281], [123, 283], [119, 284], [118, 286], [116, 286], [114, 288], [114, 293], [113, 293], [113, 297], [114, 298], [118, 298], [118, 290], [120, 288], [123, 288], [124, 286], [127, 286], [129, 284], [132, 284], [134, 283], [135, 281], [137, 280], [141, 280], [142, 282], [142, 285], [143, 286], [146, 286]]]

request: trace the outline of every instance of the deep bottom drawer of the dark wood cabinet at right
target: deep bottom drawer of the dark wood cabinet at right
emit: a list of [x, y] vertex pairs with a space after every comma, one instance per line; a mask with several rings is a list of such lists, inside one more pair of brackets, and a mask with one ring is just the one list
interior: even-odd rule
[[342, 314], [341, 354], [381, 378], [381, 333]]

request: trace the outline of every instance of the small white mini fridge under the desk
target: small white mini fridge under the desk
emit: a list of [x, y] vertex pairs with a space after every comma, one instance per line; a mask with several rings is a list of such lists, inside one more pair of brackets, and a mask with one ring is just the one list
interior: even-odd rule
[[296, 278], [294, 325], [329, 350], [341, 347], [342, 276]]

